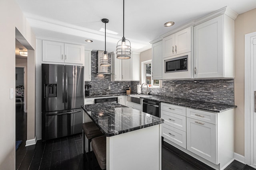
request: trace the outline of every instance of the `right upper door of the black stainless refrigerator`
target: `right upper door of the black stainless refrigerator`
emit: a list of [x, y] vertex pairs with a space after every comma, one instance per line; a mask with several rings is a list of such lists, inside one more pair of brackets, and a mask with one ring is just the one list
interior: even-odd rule
[[84, 66], [65, 65], [65, 109], [84, 104]]

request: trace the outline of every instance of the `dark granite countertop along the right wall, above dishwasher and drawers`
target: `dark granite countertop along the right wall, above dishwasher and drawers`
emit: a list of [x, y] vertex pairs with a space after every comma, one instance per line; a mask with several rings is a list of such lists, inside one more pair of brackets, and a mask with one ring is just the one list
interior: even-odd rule
[[220, 113], [222, 111], [226, 111], [229, 109], [236, 108], [237, 106], [234, 105], [226, 105], [226, 104], [217, 104], [217, 103], [210, 103], [210, 102], [201, 102], [201, 101], [193, 101], [193, 100], [184, 100], [180, 98], [170, 98], [170, 97], [161, 97], [161, 96], [142, 96], [141, 98], [155, 101], [155, 102], [164, 102], [168, 104], [178, 105], [189, 107], [192, 109], [204, 110], [204, 111], [211, 111]]

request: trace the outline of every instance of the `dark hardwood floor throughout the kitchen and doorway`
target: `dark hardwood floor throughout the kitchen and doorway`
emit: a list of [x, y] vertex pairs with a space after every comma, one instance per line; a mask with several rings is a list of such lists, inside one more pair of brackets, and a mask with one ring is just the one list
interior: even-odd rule
[[[36, 145], [26, 144], [26, 113], [16, 105], [16, 141], [22, 144], [16, 151], [16, 170], [88, 170], [88, 162], [82, 154], [82, 134], [46, 142], [37, 141]], [[97, 161], [94, 169], [100, 170]], [[163, 142], [162, 170], [212, 170], [209, 166], [188, 154]], [[238, 161], [232, 162], [225, 170], [255, 170]]]

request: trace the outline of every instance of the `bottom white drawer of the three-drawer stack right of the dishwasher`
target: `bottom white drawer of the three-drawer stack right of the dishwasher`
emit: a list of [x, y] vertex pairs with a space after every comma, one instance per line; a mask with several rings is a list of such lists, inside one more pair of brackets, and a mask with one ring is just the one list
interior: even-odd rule
[[162, 137], [180, 145], [181, 147], [186, 149], [186, 132], [176, 129], [175, 127], [171, 127], [166, 124], [162, 124]]

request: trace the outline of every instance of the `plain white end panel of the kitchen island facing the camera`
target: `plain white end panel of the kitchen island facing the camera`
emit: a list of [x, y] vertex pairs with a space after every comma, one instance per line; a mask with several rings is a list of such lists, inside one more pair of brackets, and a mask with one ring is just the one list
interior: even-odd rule
[[161, 124], [107, 137], [106, 169], [162, 169]]

